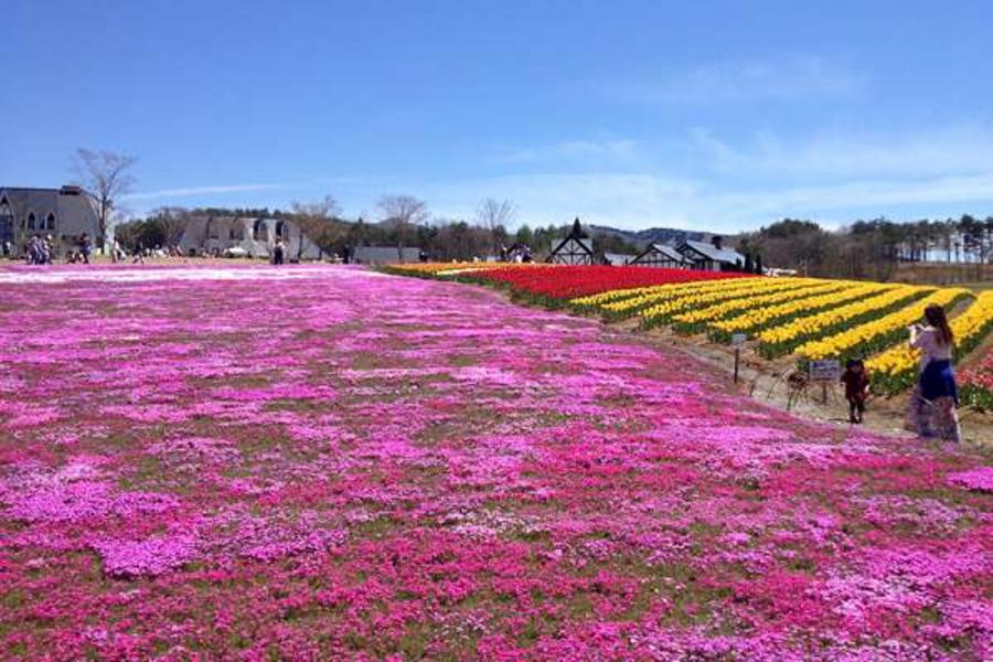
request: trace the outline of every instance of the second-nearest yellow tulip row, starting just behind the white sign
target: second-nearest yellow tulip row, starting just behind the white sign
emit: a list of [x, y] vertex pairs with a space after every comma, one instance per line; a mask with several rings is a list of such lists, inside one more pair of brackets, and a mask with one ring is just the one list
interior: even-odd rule
[[794, 353], [801, 359], [815, 361], [834, 356], [847, 357], [879, 350], [891, 344], [910, 323], [919, 321], [927, 306], [936, 305], [947, 308], [968, 296], [970, 296], [970, 291], [961, 287], [942, 288], [896, 312], [828, 338], [805, 342], [797, 348]]

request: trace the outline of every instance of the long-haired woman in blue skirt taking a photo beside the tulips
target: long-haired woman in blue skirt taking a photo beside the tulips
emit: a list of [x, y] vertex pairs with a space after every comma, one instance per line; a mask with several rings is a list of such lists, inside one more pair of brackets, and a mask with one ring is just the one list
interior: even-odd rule
[[920, 377], [910, 395], [909, 423], [922, 438], [958, 442], [959, 391], [952, 370], [955, 339], [944, 309], [925, 309], [926, 327], [910, 327], [910, 346], [920, 350]]

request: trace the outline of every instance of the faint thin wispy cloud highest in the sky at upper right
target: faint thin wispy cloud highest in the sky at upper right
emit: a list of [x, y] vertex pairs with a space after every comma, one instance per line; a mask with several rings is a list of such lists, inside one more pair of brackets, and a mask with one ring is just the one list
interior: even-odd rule
[[845, 97], [862, 92], [866, 76], [813, 55], [719, 62], [655, 81], [615, 87], [615, 97], [648, 104], [732, 104]]

